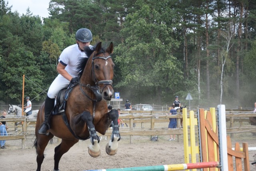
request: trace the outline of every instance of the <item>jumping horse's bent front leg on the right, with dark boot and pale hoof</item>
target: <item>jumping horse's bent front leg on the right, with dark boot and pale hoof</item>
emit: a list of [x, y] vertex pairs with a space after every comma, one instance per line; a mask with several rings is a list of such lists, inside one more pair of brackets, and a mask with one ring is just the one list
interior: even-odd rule
[[118, 127], [118, 111], [116, 109], [112, 109], [109, 111], [110, 119], [112, 120], [112, 134], [110, 141], [106, 145], [106, 153], [108, 155], [115, 155], [117, 148], [118, 148], [118, 142], [120, 140], [120, 133], [119, 133], [119, 127]]

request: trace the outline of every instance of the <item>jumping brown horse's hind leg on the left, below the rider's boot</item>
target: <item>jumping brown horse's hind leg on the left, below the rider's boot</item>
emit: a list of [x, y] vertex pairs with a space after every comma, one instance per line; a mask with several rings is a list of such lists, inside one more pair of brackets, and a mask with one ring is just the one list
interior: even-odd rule
[[44, 161], [44, 150], [49, 142], [49, 140], [53, 137], [50, 133], [48, 136], [45, 135], [38, 135], [36, 139], [36, 162], [37, 162], [37, 169], [36, 171], [41, 170], [41, 165]]

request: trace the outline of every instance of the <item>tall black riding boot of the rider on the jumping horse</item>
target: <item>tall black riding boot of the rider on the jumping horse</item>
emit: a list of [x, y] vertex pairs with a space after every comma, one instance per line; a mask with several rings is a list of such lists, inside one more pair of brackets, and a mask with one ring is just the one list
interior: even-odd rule
[[44, 122], [40, 126], [38, 133], [39, 134], [46, 134], [47, 130], [50, 129], [50, 114], [54, 108], [54, 101], [55, 99], [51, 99], [50, 97], [46, 97], [44, 102]]

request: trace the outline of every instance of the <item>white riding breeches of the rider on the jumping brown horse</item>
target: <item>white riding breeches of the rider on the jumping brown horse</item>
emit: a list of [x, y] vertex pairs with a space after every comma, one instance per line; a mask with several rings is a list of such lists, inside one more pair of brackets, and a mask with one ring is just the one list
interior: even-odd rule
[[69, 83], [70, 81], [68, 81], [66, 78], [59, 74], [49, 87], [47, 93], [48, 97], [50, 97], [51, 99], [55, 99], [58, 95], [58, 92], [61, 89], [68, 87]]

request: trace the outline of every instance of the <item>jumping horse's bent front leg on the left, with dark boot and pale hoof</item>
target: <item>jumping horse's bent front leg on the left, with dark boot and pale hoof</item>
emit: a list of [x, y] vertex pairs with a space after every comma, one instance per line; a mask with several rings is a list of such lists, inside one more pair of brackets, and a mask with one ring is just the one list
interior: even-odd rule
[[90, 133], [90, 141], [92, 144], [88, 145], [88, 153], [92, 157], [98, 157], [100, 155], [100, 138], [98, 137], [95, 127], [92, 123], [92, 115], [88, 111], [84, 111], [81, 115], [83, 121], [86, 122], [88, 131]]

